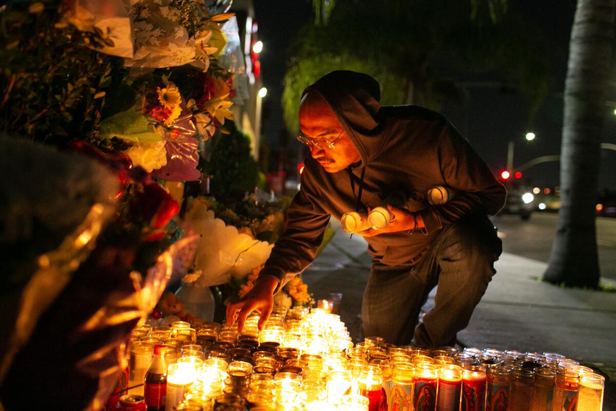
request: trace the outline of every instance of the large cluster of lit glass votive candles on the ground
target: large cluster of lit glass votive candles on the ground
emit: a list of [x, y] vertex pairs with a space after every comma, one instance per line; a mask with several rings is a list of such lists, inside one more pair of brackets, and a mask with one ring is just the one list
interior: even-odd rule
[[[561, 354], [353, 344], [339, 315], [293, 307], [237, 327], [133, 332], [131, 384], [166, 344], [166, 411], [601, 411], [604, 378]], [[141, 388], [142, 389], [142, 388]], [[132, 393], [139, 394], [139, 388]]]

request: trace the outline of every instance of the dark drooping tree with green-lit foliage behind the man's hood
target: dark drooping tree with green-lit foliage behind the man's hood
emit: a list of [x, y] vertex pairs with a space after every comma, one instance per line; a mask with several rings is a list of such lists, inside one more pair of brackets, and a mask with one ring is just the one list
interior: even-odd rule
[[[497, 71], [530, 102], [529, 118], [548, 94], [541, 36], [510, 12], [506, 0], [314, 0], [317, 22], [291, 47], [283, 109], [298, 129], [303, 89], [333, 70], [354, 70], [381, 84], [382, 104], [440, 110], [463, 102], [453, 71]], [[323, 10], [331, 12], [326, 15]], [[532, 120], [529, 120], [532, 121]]]

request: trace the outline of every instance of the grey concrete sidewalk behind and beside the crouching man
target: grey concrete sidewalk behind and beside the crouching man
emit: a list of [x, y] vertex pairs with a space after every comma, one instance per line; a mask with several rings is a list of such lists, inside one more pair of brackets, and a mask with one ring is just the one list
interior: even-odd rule
[[[370, 256], [363, 238], [339, 229], [304, 272], [315, 298], [342, 293], [341, 318], [355, 340]], [[538, 280], [545, 262], [504, 253], [496, 275], [468, 327], [458, 334], [461, 346], [559, 352], [606, 378], [604, 410], [616, 410], [616, 293], [560, 288]], [[609, 281], [604, 281], [609, 282]], [[433, 290], [424, 311], [434, 305]]]

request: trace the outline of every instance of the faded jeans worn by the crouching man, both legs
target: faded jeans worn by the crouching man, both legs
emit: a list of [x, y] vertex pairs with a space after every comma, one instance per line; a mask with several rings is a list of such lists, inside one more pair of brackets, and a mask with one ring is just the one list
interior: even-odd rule
[[[500, 238], [487, 219], [463, 219], [444, 227], [412, 267], [373, 262], [362, 302], [362, 333], [387, 343], [453, 346], [456, 334], [496, 273]], [[438, 285], [434, 309], [418, 323], [421, 306]]]

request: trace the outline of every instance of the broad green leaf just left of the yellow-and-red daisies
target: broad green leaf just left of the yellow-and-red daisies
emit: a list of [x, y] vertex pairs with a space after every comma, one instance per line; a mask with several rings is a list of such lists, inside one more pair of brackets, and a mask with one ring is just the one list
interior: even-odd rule
[[154, 131], [154, 127], [140, 112], [140, 107], [132, 107], [105, 118], [100, 122], [100, 136], [103, 139], [118, 137], [128, 142], [159, 141], [160, 134]]

